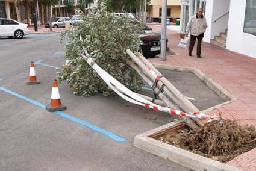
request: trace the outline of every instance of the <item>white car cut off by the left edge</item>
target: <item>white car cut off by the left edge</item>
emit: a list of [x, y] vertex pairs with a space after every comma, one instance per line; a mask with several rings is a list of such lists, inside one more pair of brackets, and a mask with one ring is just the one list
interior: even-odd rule
[[22, 38], [24, 35], [29, 34], [30, 30], [25, 23], [17, 22], [12, 19], [0, 18], [0, 37]]

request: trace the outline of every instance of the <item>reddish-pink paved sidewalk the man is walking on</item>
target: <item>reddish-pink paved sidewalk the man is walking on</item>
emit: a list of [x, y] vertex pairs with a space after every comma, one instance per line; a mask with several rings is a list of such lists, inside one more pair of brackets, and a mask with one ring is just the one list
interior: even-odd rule
[[[154, 31], [161, 30], [161, 25], [148, 23], [148, 26]], [[186, 48], [178, 47], [179, 33], [167, 28], [167, 37], [168, 46], [176, 55], [167, 57], [166, 61], [160, 61], [159, 58], [152, 58], [150, 61], [200, 69], [237, 98], [237, 101], [207, 114], [221, 112], [223, 119], [236, 120], [241, 125], [256, 126], [256, 59], [205, 42], [202, 43], [202, 59], [196, 58], [196, 45], [193, 57], [189, 57]], [[234, 158], [229, 164], [243, 170], [256, 170], [256, 148]]]

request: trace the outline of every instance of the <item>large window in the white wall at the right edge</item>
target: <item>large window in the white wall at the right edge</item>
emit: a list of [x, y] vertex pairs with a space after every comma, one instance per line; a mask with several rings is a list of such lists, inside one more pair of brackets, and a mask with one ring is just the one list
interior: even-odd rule
[[243, 32], [256, 36], [256, 0], [246, 0]]

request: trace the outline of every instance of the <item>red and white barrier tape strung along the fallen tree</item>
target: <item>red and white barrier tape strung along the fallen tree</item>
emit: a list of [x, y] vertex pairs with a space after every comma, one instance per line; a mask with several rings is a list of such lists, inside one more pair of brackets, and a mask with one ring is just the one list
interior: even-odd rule
[[[106, 82], [106, 84], [112, 90], [114, 90], [114, 92], [117, 93], [117, 95], [121, 96], [126, 101], [131, 102], [133, 104], [144, 106], [146, 108], [152, 108], [154, 110], [164, 111], [164, 112], [170, 113], [170, 114], [207, 120], [207, 122], [211, 122], [213, 120], [219, 120], [219, 117], [217, 117], [216, 115], [208, 116], [206, 114], [199, 113], [199, 112], [184, 113], [183, 111], [174, 110], [174, 109], [168, 108], [168, 107], [161, 107], [160, 105], [154, 104], [151, 101], [148, 101], [148, 100], [142, 98], [141, 96], [132, 92], [130, 89], [126, 88], [123, 84], [121, 84], [119, 81], [117, 81], [115, 78], [113, 78], [113, 76], [109, 75], [107, 72], [105, 72], [105, 70], [103, 70], [101, 67], [99, 67], [98, 64], [96, 64], [92, 60], [92, 58], [89, 57], [89, 54], [87, 51], [85, 51], [85, 53], [86, 53], [86, 55], [84, 55], [84, 54], [81, 54], [81, 55], [87, 61], [87, 63], [98, 73], [99, 76], [101, 76], [101, 78]], [[157, 74], [155, 74], [155, 75], [156, 75], [155, 78], [158, 79]], [[158, 81], [160, 81], [160, 80], [161, 80], [161, 77], [159, 77]]]

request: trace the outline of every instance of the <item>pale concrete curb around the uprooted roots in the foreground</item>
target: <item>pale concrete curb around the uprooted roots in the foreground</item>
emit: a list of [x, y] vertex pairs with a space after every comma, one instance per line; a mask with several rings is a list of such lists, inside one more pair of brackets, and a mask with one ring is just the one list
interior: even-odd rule
[[159, 135], [161, 132], [181, 125], [183, 125], [183, 122], [175, 121], [160, 126], [159, 128], [152, 129], [151, 131], [145, 132], [143, 134], [137, 135], [134, 138], [133, 146], [139, 149], [143, 149], [144, 151], [151, 154], [155, 154], [164, 159], [173, 161], [174, 163], [181, 164], [182, 166], [192, 170], [240, 170], [237, 169], [237, 167], [231, 166], [229, 164], [211, 160], [210, 158], [202, 157], [201, 155], [194, 154], [193, 152], [186, 151], [166, 143], [161, 143], [160, 141], [151, 138], [154, 135]]

